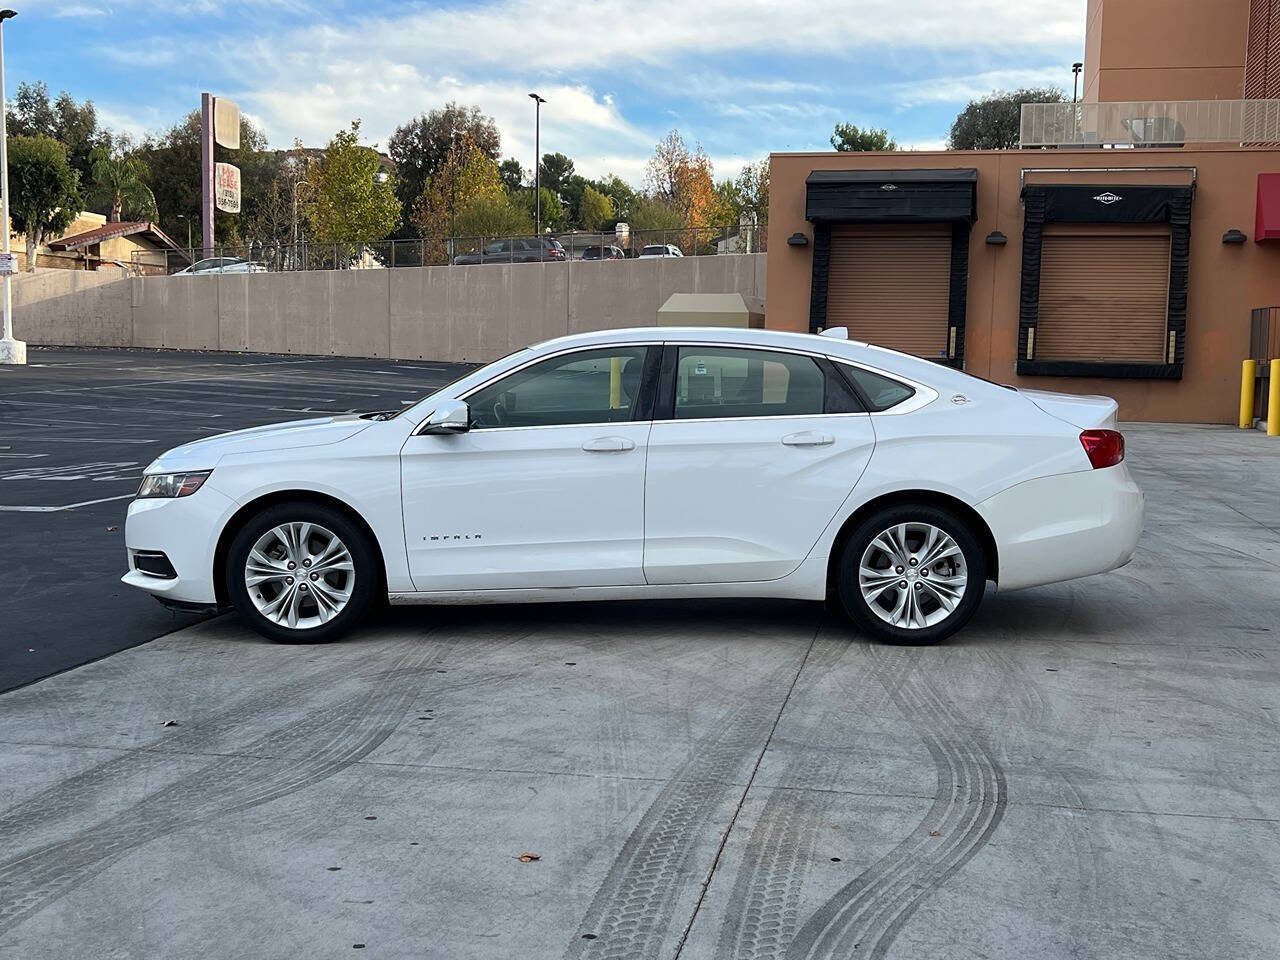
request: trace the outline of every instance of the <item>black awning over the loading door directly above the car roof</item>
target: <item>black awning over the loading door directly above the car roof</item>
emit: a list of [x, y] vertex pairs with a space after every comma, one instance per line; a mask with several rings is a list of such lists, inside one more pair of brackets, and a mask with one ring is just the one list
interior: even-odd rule
[[805, 219], [828, 223], [943, 223], [978, 216], [978, 172], [814, 170]]

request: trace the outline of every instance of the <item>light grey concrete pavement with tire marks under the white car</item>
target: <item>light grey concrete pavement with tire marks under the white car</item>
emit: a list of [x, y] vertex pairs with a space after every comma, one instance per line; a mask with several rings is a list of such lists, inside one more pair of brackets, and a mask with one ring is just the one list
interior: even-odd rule
[[[1280, 444], [1126, 435], [1135, 559], [940, 648], [803, 603], [401, 608], [8, 692], [0, 956], [1274, 957]], [[0, 520], [8, 564], [59, 549]]]

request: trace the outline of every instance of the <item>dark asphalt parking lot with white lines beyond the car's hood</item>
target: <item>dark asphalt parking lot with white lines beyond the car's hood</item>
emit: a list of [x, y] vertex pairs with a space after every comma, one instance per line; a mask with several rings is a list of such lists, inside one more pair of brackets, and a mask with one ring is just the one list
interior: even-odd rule
[[119, 582], [142, 470], [210, 434], [390, 410], [457, 364], [38, 349], [0, 366], [0, 690], [196, 621]]

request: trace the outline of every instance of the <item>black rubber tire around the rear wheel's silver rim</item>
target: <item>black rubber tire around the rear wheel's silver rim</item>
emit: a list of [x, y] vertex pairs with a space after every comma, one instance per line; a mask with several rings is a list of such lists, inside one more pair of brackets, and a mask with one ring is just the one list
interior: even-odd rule
[[[902, 627], [887, 622], [872, 609], [872, 603], [867, 600], [860, 588], [859, 570], [861, 567], [863, 556], [867, 553], [876, 538], [887, 530], [896, 529], [900, 524], [928, 524], [937, 527], [955, 540], [956, 545], [960, 548], [960, 554], [964, 561], [966, 582], [959, 602], [948, 614], [943, 612], [945, 608], [937, 600], [936, 595], [929, 593], [927, 582], [922, 582], [920, 586], [914, 588], [915, 591], [918, 591], [916, 595], [924, 596], [924, 600], [922, 602], [923, 605], [925, 608], [932, 608], [931, 613], [943, 612], [942, 618], [927, 626]], [[916, 531], [909, 534], [911, 538], [918, 535], [919, 534]], [[951, 563], [956, 563], [956, 561], [943, 561], [943, 564]], [[902, 568], [904, 577], [906, 576], [906, 567]], [[955, 570], [955, 567], [950, 567], [943, 571], [943, 576], [954, 573]], [[895, 567], [893, 573], [896, 575], [897, 571], [899, 568]], [[884, 572], [890, 573], [890, 570], [886, 567]], [[937, 573], [936, 567], [934, 573]], [[911, 580], [904, 579], [897, 582], [914, 585], [918, 579], [923, 579], [924, 576], [927, 575], [913, 575]], [[923, 646], [946, 640], [969, 622], [969, 618], [982, 603], [982, 595], [986, 590], [986, 585], [987, 559], [977, 534], [974, 534], [969, 525], [955, 513], [924, 503], [905, 503], [886, 507], [868, 516], [858, 525], [845, 541], [840, 556], [840, 563], [836, 568], [836, 590], [840, 594], [841, 604], [844, 605], [850, 620], [854, 621], [855, 626], [861, 632], [887, 644]], [[896, 598], [900, 596], [900, 593], [897, 591], [897, 586], [888, 588], [886, 593], [881, 594], [884, 599], [877, 600], [877, 603], [881, 603], [882, 608], [895, 605]], [[922, 620], [924, 616], [922, 614]]]

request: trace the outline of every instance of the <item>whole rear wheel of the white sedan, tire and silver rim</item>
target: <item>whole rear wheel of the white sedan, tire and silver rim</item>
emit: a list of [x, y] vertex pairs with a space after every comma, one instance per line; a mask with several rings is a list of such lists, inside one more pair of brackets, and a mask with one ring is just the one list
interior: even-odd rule
[[858, 525], [837, 570], [841, 603], [854, 623], [891, 644], [936, 644], [982, 603], [982, 544], [950, 511], [900, 504]]

